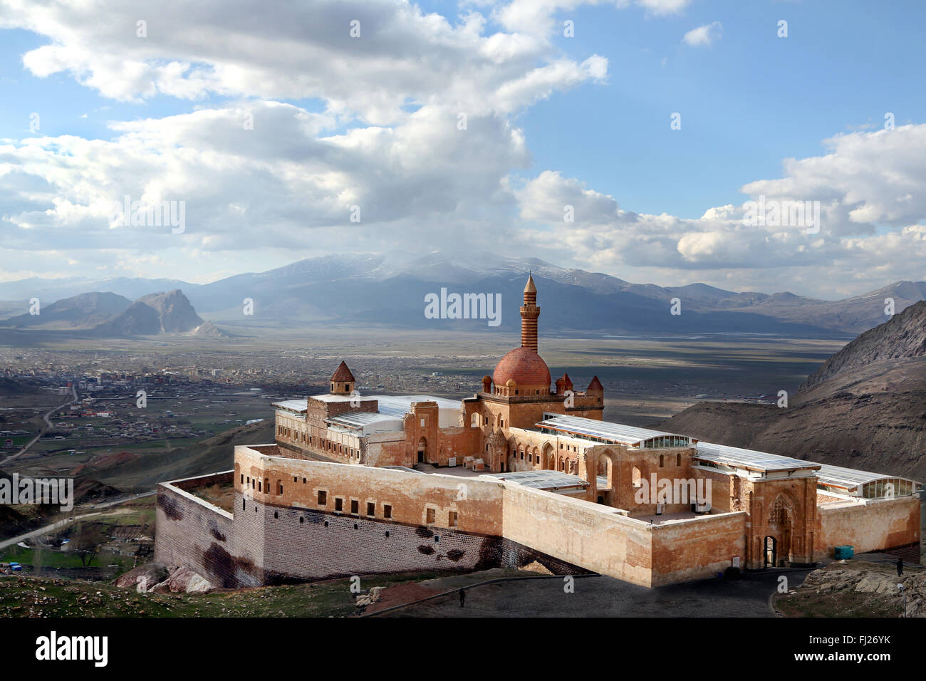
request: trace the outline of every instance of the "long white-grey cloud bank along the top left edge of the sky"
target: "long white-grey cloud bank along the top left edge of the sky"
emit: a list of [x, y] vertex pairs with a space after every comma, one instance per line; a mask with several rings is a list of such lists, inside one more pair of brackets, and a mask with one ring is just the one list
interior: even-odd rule
[[144, 10], [131, 0], [0, 0], [0, 7], [0, 27], [51, 40], [23, 56], [33, 75], [69, 73], [101, 95], [129, 102], [159, 94], [193, 101], [317, 97], [331, 113], [385, 125], [402, 120], [409, 101], [454, 103], [475, 114], [515, 111], [538, 97], [535, 88], [519, 87], [534, 69], [544, 92], [601, 79], [607, 69], [602, 57], [584, 66], [551, 58], [545, 38], [531, 32], [486, 34], [478, 12], [451, 24], [389, 0], [284, 3], [272, 12], [258, 0]]

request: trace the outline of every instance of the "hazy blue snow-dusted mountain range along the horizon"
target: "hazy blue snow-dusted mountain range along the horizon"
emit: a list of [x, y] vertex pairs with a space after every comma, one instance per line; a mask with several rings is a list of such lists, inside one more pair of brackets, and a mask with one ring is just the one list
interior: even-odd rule
[[[783, 292], [732, 292], [707, 284], [657, 286], [632, 284], [600, 272], [561, 268], [544, 260], [504, 258], [486, 253], [457, 258], [434, 252], [344, 255], [303, 259], [275, 270], [238, 274], [210, 284], [175, 280], [115, 278], [106, 280], [33, 278], [0, 284], [0, 298], [17, 301], [31, 297], [57, 300], [43, 310], [54, 312], [48, 324], [56, 328], [94, 329], [99, 333], [143, 334], [161, 324], [145, 308], [145, 294], [165, 286], [182, 289], [198, 312], [211, 322], [246, 327], [297, 328], [308, 323], [383, 326], [402, 329], [485, 329], [475, 320], [427, 319], [424, 296], [448, 293], [501, 294], [500, 326], [519, 325], [524, 277], [532, 271], [543, 309], [545, 333], [553, 334], [786, 334], [852, 337], [885, 319], [884, 300], [893, 298], [895, 311], [926, 299], [926, 282], [897, 282], [845, 300], [820, 300]], [[107, 293], [100, 293], [107, 292]], [[131, 303], [129, 298], [137, 298]], [[681, 314], [672, 315], [672, 299]], [[254, 315], [243, 314], [245, 299], [253, 301]], [[124, 306], [123, 309], [119, 309]], [[8, 305], [7, 305], [8, 307]], [[27, 309], [23, 303], [21, 309]], [[114, 311], [128, 317], [116, 322]], [[5, 325], [34, 328], [19, 315]], [[170, 315], [169, 315], [170, 316]], [[195, 322], [181, 324], [192, 330]], [[198, 317], [197, 317], [198, 319]], [[99, 328], [103, 323], [113, 326]], [[203, 323], [199, 320], [199, 323]], [[53, 328], [45, 326], [44, 328]], [[158, 332], [160, 333], [160, 332]]]

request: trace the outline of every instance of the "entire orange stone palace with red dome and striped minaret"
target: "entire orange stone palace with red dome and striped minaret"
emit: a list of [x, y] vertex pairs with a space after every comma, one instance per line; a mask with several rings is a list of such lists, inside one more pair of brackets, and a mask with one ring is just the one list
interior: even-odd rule
[[[552, 381], [537, 289], [521, 342], [461, 401], [329, 392], [277, 402], [234, 470], [162, 483], [155, 560], [215, 586], [540, 562], [643, 586], [807, 565], [836, 547], [919, 562], [920, 485], [603, 421], [604, 388]], [[233, 507], [200, 491], [233, 487]]]

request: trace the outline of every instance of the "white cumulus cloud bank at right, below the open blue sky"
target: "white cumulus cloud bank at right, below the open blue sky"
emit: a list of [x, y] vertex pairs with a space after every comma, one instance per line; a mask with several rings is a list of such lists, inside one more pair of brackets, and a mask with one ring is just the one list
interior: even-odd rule
[[[819, 201], [819, 232], [786, 220], [753, 224], [744, 205], [708, 208], [694, 220], [632, 212], [577, 179], [544, 171], [515, 190], [519, 216], [532, 223], [522, 226], [519, 243], [555, 245], [546, 253], [553, 261], [569, 253], [582, 267], [625, 279], [637, 271], [677, 282], [691, 271], [690, 281], [735, 281], [736, 288], [802, 282], [855, 295], [859, 276], [926, 278], [926, 198], [913, 189], [926, 183], [926, 125], [837, 135], [825, 144], [825, 156], [786, 159], [782, 178], [742, 188], [782, 215], [785, 202]], [[574, 208], [572, 223], [564, 221], [566, 205]], [[543, 240], [532, 239], [535, 223], [544, 226]]]

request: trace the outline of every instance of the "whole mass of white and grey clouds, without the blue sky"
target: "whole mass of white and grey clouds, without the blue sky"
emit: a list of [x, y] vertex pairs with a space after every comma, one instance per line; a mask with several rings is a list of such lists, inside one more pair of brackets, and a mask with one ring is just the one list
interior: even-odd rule
[[[785, 159], [781, 177], [741, 188], [753, 200], [819, 201], [819, 233], [745, 224], [732, 197], [695, 219], [634, 212], [618, 188], [533, 170], [519, 112], [608, 79], [605, 57], [580, 61], [551, 43], [554, 19], [578, 0], [485, 5], [502, 27], [495, 32], [477, 11], [451, 21], [403, 2], [270, 13], [257, 2], [217, 9], [206, 0], [185, 14], [149, 7], [146, 38], [136, 36], [141, 18], [129, 2], [4, 5], [2, 25], [50, 40], [24, 56], [34, 75], [69, 73], [113, 99], [169, 95], [193, 109], [114, 120], [106, 140], [0, 139], [0, 257], [22, 276], [106, 268], [202, 280], [254, 269], [257, 254], [284, 264], [296, 253], [426, 244], [460, 256], [504, 247], [625, 279], [738, 289], [854, 294], [874, 274], [926, 277], [926, 125], [835, 135], [824, 155]], [[687, 5], [635, 3], [652, 15]], [[355, 18], [361, 37], [352, 39]], [[700, 27], [685, 42], [709, 44], [720, 30]], [[124, 195], [183, 201], [185, 233], [112, 225]], [[355, 206], [359, 222], [350, 220]]]

